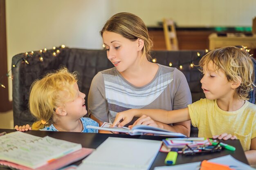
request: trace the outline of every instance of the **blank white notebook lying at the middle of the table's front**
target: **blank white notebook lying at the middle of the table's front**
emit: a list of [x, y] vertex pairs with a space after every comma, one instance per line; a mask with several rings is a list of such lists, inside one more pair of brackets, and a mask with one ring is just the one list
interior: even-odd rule
[[162, 141], [108, 137], [78, 170], [148, 170]]

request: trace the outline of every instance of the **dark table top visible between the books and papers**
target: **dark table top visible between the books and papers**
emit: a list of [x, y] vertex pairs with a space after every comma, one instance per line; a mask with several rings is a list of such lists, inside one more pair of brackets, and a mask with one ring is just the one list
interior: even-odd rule
[[[15, 130], [12, 129], [0, 129], [0, 132], [14, 132]], [[79, 133], [79, 132], [50, 132], [50, 131], [40, 131], [40, 130], [29, 130], [26, 133], [29, 133], [31, 135], [39, 136], [39, 137], [45, 137], [50, 136], [54, 137], [56, 139], [63, 139], [66, 141], [71, 141], [75, 143], [82, 144], [85, 148], [97, 148], [103, 141], [105, 141], [108, 137], [123, 137], [123, 138], [135, 138], [135, 139], [150, 139], [150, 140], [162, 140], [166, 137], [164, 136], [150, 136], [150, 135], [126, 135], [126, 134], [102, 134], [102, 133]], [[203, 161], [205, 159], [213, 159], [216, 157], [221, 157], [225, 155], [232, 155], [234, 158], [238, 159], [239, 161], [242, 161], [243, 163], [248, 163], [245, 153], [243, 151], [243, 148], [240, 144], [239, 140], [228, 140], [228, 141], [222, 141], [225, 144], [229, 144], [231, 146], [236, 147], [236, 151], [230, 151], [230, 150], [222, 150], [221, 152], [216, 152], [212, 154], [207, 155], [196, 155], [196, 156], [184, 156], [184, 155], [178, 155], [176, 165], [182, 164], [182, 163], [191, 163], [191, 162], [197, 162], [197, 161]], [[149, 148], [150, 149], [150, 148]], [[153, 162], [150, 170], [153, 170], [156, 166], [164, 166], [164, 159], [166, 157], [167, 153], [164, 152], [158, 152], [157, 157], [155, 161]], [[78, 165], [81, 163], [81, 161], [76, 162], [75, 164]], [[0, 168], [0, 170], [7, 170], [8, 168]]]

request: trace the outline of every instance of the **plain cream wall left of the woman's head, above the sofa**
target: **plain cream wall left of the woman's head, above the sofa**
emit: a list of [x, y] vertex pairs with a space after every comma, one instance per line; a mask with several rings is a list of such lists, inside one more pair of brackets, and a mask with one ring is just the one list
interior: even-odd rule
[[[6, 0], [8, 70], [18, 53], [65, 44], [100, 49], [99, 30], [108, 19], [105, 0]], [[12, 100], [11, 79], [9, 99]]]

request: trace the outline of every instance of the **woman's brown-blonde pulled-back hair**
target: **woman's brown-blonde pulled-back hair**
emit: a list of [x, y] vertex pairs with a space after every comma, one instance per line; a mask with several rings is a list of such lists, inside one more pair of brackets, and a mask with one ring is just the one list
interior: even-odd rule
[[143, 51], [142, 56], [146, 56], [148, 60], [151, 59], [150, 51], [153, 42], [149, 38], [146, 25], [138, 16], [126, 12], [116, 13], [107, 20], [101, 29], [101, 37], [105, 31], [118, 33], [131, 41], [138, 38], [144, 40], [144, 47], [141, 49]]

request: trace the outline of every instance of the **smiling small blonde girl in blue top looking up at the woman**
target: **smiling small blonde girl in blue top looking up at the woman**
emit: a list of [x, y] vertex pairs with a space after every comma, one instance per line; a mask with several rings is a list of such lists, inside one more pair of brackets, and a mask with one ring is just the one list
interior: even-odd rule
[[[87, 125], [99, 125], [83, 117], [87, 114], [84, 98], [85, 94], [79, 91], [76, 74], [69, 73], [65, 67], [36, 80], [31, 85], [29, 96], [29, 109], [38, 119], [32, 130], [97, 132], [86, 128]], [[29, 128], [29, 125], [23, 128], [15, 126], [20, 131]]]

